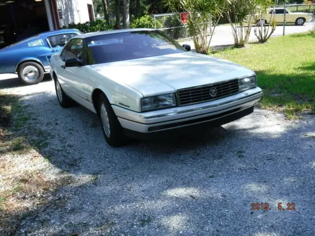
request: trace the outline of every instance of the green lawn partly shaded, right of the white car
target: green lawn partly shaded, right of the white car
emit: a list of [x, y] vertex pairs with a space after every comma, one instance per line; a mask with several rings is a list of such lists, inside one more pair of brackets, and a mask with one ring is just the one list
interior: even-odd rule
[[254, 70], [264, 91], [263, 109], [284, 111], [287, 118], [315, 114], [315, 32], [271, 38], [265, 44], [229, 48], [214, 56]]

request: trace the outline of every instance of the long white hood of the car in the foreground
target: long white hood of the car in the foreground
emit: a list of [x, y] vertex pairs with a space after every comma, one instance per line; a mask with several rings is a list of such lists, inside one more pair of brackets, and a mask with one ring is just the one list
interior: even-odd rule
[[92, 65], [98, 73], [138, 90], [165, 94], [254, 75], [236, 63], [193, 52]]

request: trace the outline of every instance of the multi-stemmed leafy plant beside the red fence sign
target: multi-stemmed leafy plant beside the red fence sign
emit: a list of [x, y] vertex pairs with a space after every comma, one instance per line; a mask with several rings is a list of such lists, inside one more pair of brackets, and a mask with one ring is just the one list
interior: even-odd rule
[[208, 54], [212, 36], [226, 8], [227, 0], [162, 0], [162, 2], [169, 11], [189, 12], [187, 26], [196, 51]]

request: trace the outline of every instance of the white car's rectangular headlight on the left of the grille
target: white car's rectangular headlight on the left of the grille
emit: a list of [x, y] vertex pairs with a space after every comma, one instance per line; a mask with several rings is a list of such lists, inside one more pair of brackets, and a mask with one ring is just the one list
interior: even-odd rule
[[141, 111], [147, 112], [176, 106], [175, 93], [144, 97], [141, 99]]

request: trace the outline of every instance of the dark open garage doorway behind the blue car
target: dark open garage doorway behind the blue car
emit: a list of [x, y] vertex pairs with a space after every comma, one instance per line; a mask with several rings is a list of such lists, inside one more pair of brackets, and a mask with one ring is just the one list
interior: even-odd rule
[[0, 48], [48, 30], [44, 0], [0, 0]]

